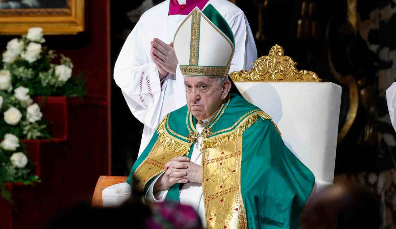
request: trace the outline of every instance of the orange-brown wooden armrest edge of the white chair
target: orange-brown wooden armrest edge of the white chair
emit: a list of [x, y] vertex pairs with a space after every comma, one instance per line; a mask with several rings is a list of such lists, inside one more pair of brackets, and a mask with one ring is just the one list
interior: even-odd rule
[[126, 182], [128, 177], [120, 176], [100, 176], [93, 192], [91, 206], [93, 208], [103, 208], [102, 191], [103, 189], [118, 183]]

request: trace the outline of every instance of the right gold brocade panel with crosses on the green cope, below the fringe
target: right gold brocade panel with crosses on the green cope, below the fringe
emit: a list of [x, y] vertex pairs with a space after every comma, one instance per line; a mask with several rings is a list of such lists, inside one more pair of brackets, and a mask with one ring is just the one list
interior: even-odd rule
[[240, 188], [242, 136], [202, 153], [206, 228], [247, 228]]

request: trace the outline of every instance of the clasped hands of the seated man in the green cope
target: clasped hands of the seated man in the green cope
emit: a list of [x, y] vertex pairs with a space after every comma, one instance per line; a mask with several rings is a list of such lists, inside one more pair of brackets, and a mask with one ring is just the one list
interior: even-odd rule
[[176, 183], [202, 183], [201, 166], [186, 156], [177, 156], [165, 164], [165, 173], [154, 184], [153, 192], [167, 189]]

